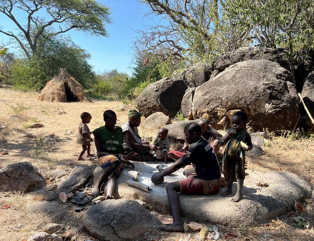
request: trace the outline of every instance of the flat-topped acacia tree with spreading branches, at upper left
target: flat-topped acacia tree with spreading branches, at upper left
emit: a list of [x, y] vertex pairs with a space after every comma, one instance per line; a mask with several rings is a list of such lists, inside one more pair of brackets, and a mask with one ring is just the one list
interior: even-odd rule
[[[58, 27], [49, 38], [71, 29], [107, 36], [106, 24], [111, 23], [109, 10], [94, 0], [0, 0], [0, 13], [11, 19], [19, 31], [5, 31], [0, 26], [0, 33], [14, 38], [30, 59], [47, 28]], [[16, 19], [21, 11], [27, 16], [25, 26]]]

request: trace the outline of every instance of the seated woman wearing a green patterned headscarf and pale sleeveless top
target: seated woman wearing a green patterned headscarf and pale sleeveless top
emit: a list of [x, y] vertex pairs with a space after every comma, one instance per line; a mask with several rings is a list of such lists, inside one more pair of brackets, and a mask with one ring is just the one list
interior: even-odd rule
[[129, 160], [146, 160], [150, 150], [157, 150], [156, 145], [150, 145], [139, 136], [137, 127], [140, 126], [141, 116], [142, 114], [137, 110], [130, 110], [129, 121], [122, 126], [124, 153]]

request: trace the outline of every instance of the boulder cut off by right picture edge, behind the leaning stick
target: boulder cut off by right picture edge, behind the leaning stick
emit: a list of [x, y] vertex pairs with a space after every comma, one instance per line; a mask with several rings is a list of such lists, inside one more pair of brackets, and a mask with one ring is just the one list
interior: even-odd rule
[[[306, 78], [301, 96], [311, 116], [314, 118], [314, 72], [311, 72]], [[305, 126], [309, 129], [314, 127], [314, 124], [311, 121], [309, 115], [306, 113], [303, 104], [300, 104], [300, 114], [302, 118], [302, 126]]]

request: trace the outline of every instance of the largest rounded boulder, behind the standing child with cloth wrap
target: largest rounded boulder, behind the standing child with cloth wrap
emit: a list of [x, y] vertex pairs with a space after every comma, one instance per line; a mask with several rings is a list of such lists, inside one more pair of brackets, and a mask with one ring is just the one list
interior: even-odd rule
[[299, 98], [289, 71], [278, 63], [257, 60], [231, 65], [195, 90], [193, 117], [214, 128], [230, 126], [236, 110], [248, 114], [254, 131], [292, 129]]

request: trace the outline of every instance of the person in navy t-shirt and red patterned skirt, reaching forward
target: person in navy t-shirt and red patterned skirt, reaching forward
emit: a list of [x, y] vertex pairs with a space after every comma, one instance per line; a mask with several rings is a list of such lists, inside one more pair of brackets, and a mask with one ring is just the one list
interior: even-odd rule
[[163, 172], [151, 177], [153, 183], [163, 180], [164, 176], [172, 174], [186, 164], [187, 179], [172, 182], [167, 185], [167, 195], [173, 216], [173, 223], [164, 227], [164, 231], [184, 232], [180, 217], [179, 195], [182, 194], [216, 194], [221, 185], [219, 164], [211, 145], [201, 137], [201, 126], [191, 122], [184, 127], [186, 141], [191, 144], [186, 154]]

